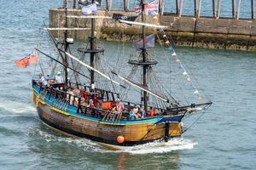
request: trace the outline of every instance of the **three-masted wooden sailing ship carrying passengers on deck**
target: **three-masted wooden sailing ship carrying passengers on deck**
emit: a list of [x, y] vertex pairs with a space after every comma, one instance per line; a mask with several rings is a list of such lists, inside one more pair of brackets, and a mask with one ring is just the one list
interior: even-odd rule
[[[91, 3], [95, 3], [95, 0], [92, 0]], [[90, 64], [86, 64], [82, 59], [71, 54], [69, 46], [73, 41], [67, 37], [67, 7], [65, 8], [66, 26], [62, 28], [62, 30], [65, 30], [63, 41], [56, 41], [49, 31], [61, 60], [55, 59], [36, 48], [38, 53], [44, 54], [53, 59], [55, 63], [62, 65], [65, 75], [63, 82], [55, 82], [49, 79], [47, 85], [40, 82], [38, 78], [32, 79], [32, 101], [44, 124], [65, 133], [92, 139], [101, 144], [116, 147], [132, 146], [155, 140], [168, 141], [173, 137], [181, 136], [184, 132], [183, 117], [195, 111], [206, 110], [212, 105], [210, 101], [201, 104], [181, 105], [172, 96], [167, 97], [166, 95], [157, 94], [156, 90], [152, 90], [148, 86], [149, 72], [153, 70], [153, 65], [156, 65], [157, 62], [148, 58], [145, 27], [153, 26], [162, 29], [164, 26], [144, 23], [146, 4], [144, 0], [141, 0], [141, 22], [126, 20], [127, 17], [120, 15], [118, 18], [119, 22], [142, 26], [143, 42], [139, 48], [138, 58], [128, 61], [131, 66], [142, 71], [142, 77], [139, 78], [142, 82], [135, 82], [129, 77], [120, 75], [117, 71], [108, 71], [108, 74], [105, 74], [103, 71], [96, 69], [96, 56], [102, 54], [104, 49], [96, 46], [95, 22], [99, 16], [95, 14], [86, 16], [91, 21], [90, 45], [86, 48], [79, 48], [79, 53], [89, 54]], [[52, 30], [54, 29], [52, 28]], [[90, 75], [74, 68], [69, 63], [70, 60], [79, 63], [80, 67], [87, 68]], [[73, 77], [85, 77], [90, 82], [88, 84], [71, 82], [71, 78], [68, 77], [70, 70], [74, 72]], [[119, 81], [110, 77], [110, 74], [115, 75]], [[96, 75], [104, 78], [112, 86], [122, 88], [125, 92], [128, 87], [137, 88], [142, 94], [141, 102], [126, 101], [115, 90], [98, 88], [97, 83], [100, 83], [100, 81], [96, 79]], [[71, 93], [73, 87], [76, 87], [75, 90], [78, 93]], [[129, 92], [127, 93], [129, 94]], [[155, 99], [154, 101], [157, 100], [157, 102], [152, 103], [149, 101], [150, 99]]]

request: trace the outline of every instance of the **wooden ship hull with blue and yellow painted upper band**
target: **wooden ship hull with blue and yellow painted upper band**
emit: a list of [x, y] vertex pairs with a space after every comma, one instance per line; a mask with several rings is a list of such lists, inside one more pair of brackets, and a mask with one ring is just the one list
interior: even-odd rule
[[[160, 116], [134, 121], [103, 121], [102, 118], [79, 113], [76, 106], [61, 105], [58, 99], [41, 93], [37, 85], [32, 88], [32, 101], [41, 121], [50, 127], [103, 144], [131, 146], [178, 137], [183, 133], [181, 122], [178, 122], [183, 115], [173, 116], [173, 122], [167, 123], [157, 123], [162, 120]], [[119, 136], [124, 137], [124, 142], [118, 142]]]

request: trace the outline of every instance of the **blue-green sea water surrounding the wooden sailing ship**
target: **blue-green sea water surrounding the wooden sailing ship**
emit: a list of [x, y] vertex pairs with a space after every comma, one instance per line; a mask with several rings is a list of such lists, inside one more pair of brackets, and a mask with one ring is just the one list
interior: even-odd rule
[[[34, 67], [16, 68], [14, 60], [31, 52], [49, 8], [60, 4], [0, 5], [0, 169], [255, 169], [256, 54], [251, 52], [177, 48], [214, 105], [182, 138], [168, 143], [110, 151], [39, 122], [31, 102]], [[47, 49], [48, 42], [42, 43]], [[117, 42], [105, 43], [113, 53]], [[157, 59], [165, 62], [163, 56]]]

